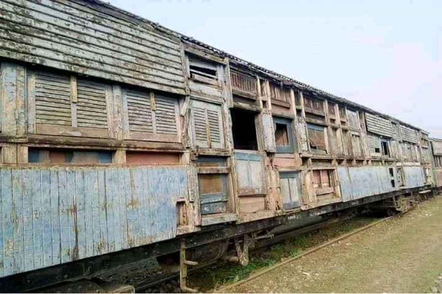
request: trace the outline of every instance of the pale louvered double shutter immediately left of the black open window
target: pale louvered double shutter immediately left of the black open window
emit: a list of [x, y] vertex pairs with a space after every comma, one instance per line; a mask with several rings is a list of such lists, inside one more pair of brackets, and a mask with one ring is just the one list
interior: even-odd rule
[[206, 148], [223, 148], [221, 105], [193, 100], [191, 115], [193, 145]]

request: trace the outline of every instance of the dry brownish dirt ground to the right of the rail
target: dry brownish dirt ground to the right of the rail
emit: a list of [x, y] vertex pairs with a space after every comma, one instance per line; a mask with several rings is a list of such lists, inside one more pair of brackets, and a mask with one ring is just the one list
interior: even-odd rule
[[441, 293], [442, 196], [231, 293]]

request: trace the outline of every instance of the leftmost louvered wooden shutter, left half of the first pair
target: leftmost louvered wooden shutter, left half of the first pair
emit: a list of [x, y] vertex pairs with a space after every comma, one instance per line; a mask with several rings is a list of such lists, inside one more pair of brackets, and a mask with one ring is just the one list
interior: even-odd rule
[[71, 97], [68, 75], [35, 73], [35, 119], [37, 124], [71, 126]]

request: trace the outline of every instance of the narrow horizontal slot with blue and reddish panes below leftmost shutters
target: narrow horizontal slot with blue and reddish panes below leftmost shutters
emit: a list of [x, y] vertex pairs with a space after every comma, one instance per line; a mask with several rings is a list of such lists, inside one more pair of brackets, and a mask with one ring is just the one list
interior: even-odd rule
[[97, 164], [112, 163], [113, 151], [28, 148], [29, 163]]

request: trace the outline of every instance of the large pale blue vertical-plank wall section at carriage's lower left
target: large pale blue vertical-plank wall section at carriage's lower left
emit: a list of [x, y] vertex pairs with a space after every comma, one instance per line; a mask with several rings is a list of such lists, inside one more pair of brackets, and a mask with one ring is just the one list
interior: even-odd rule
[[184, 166], [2, 168], [0, 276], [176, 236]]

